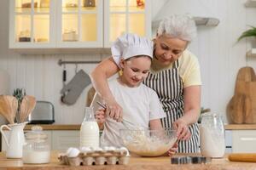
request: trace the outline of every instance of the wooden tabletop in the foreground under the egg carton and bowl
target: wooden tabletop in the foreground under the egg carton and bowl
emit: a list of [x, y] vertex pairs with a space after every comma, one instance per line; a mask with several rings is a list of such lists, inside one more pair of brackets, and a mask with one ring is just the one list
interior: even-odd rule
[[252, 162], [239, 162], [229, 161], [227, 155], [224, 158], [212, 159], [212, 162], [207, 164], [186, 164], [175, 165], [171, 164], [171, 158], [168, 156], [162, 157], [133, 157], [131, 156], [128, 165], [104, 165], [104, 166], [79, 166], [71, 167], [67, 165], [61, 165], [57, 160], [58, 153], [56, 151], [51, 152], [51, 159], [49, 164], [23, 164], [20, 159], [6, 159], [4, 153], [0, 153], [0, 168], [6, 170], [48, 170], [48, 169], [65, 169], [65, 170], [166, 170], [166, 169], [182, 169], [182, 170], [201, 170], [201, 169], [256, 169], [256, 163]]

